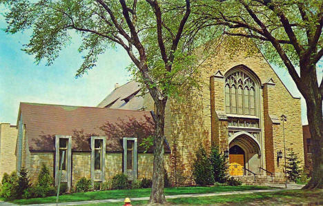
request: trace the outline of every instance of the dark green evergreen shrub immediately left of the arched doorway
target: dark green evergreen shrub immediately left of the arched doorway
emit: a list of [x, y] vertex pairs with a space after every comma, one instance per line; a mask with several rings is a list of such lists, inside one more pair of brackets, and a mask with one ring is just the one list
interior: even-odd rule
[[213, 147], [210, 154], [210, 161], [213, 167], [213, 176], [216, 183], [226, 182], [226, 157], [219, 152], [219, 147]]

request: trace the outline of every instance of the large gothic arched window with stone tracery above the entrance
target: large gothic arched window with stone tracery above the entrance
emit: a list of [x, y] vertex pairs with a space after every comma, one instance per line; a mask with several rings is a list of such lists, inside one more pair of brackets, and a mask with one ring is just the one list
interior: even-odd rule
[[255, 82], [242, 71], [233, 72], [226, 77], [226, 113], [256, 114]]

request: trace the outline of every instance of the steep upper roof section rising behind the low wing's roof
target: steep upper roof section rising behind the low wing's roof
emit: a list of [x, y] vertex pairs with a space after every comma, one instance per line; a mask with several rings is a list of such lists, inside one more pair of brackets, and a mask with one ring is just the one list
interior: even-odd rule
[[140, 84], [130, 81], [115, 88], [97, 107], [111, 109], [141, 110], [144, 105], [144, 98], [136, 96], [140, 91]]

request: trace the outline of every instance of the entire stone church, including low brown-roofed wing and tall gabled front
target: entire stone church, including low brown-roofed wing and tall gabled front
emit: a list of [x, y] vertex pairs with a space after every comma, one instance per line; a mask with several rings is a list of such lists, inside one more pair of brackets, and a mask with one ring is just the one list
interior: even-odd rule
[[[169, 99], [166, 105], [166, 169], [173, 183], [194, 184], [192, 165], [199, 145], [203, 145], [207, 151], [217, 146], [221, 152], [228, 154], [228, 172], [231, 176], [266, 176], [268, 172], [282, 176], [284, 158], [280, 156], [284, 156], [284, 147], [286, 151], [293, 149], [304, 165], [300, 98], [288, 92], [260, 52], [250, 56], [243, 44], [239, 52], [234, 53], [230, 52], [226, 45], [221, 46], [221, 43], [215, 43], [214, 48], [215, 54], [207, 58], [197, 52], [201, 59], [200, 75], [197, 77], [200, 81], [199, 89], [194, 88], [187, 92], [182, 101]], [[62, 142], [61, 150], [67, 151], [71, 163], [66, 164], [66, 171], [69, 173], [64, 178], [70, 185], [74, 185], [81, 176], [92, 179], [99, 176], [101, 181], [106, 181], [106, 178], [111, 178], [119, 172], [127, 173], [127, 141], [137, 141], [132, 136], [107, 138], [94, 128], [101, 126], [106, 117], [116, 121], [120, 116], [128, 114], [140, 114], [141, 117], [144, 114], [149, 115], [149, 111], [154, 110], [153, 100], [149, 94], [139, 96], [140, 90], [138, 83], [130, 81], [125, 85], [116, 85], [115, 90], [97, 107], [86, 109], [56, 105], [62, 109], [57, 110], [57, 107], [53, 108], [54, 105], [48, 106], [48, 110], [37, 109], [39, 113], [31, 111], [30, 115], [36, 116], [55, 116], [57, 112], [64, 112], [59, 114], [65, 116], [65, 119], [56, 119], [56, 127], [50, 119], [48, 125], [43, 126], [43, 130], [50, 127], [48, 134], [44, 134], [39, 128], [42, 124], [41, 119], [39, 125], [34, 123], [36, 116], [32, 117], [27, 125], [23, 123], [25, 119], [28, 120], [23, 117], [23, 110], [34, 110], [31, 108], [35, 108], [35, 105], [22, 103], [22, 112], [19, 113], [17, 124], [17, 144], [14, 149], [16, 169], [27, 167], [33, 171], [32, 176], [36, 178], [41, 163], [48, 162], [52, 176], [57, 176], [57, 161], [60, 156], [57, 151], [61, 149], [62, 138], [62, 141], [66, 142]], [[111, 116], [108, 111], [112, 109], [119, 110], [113, 110], [117, 113]], [[50, 110], [57, 111], [45, 114]], [[73, 113], [79, 110], [84, 110], [84, 113]], [[281, 120], [282, 114], [287, 116], [284, 124]], [[97, 125], [95, 121], [80, 121], [71, 125], [70, 121], [67, 121], [70, 116], [82, 120], [84, 115], [95, 121], [99, 116], [101, 121], [97, 122]], [[61, 124], [65, 130], [61, 130]], [[83, 125], [88, 133], [86, 144], [78, 139], [79, 136], [73, 134], [77, 125]], [[27, 130], [34, 132], [30, 133], [30, 136], [35, 136], [34, 141], [30, 137], [27, 140], [23, 138], [25, 126]], [[95, 141], [99, 141], [101, 146], [96, 147]], [[110, 145], [110, 142], [117, 146]], [[137, 168], [133, 172], [134, 177], [151, 178], [153, 154], [151, 151], [145, 154], [137, 145], [130, 146], [138, 153], [137, 158], [133, 158], [137, 161], [132, 162], [133, 168]], [[106, 156], [104, 161], [101, 161], [101, 170], [95, 173], [91, 156], [95, 156], [93, 152], [97, 148], [101, 148], [101, 153], [105, 153]]]

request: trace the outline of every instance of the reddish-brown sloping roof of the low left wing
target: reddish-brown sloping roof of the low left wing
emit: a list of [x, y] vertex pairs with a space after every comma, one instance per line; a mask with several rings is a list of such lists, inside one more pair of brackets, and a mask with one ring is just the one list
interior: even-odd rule
[[[106, 136], [106, 152], [123, 152], [122, 138], [131, 136], [109, 136], [100, 127], [105, 123], [122, 124], [130, 119], [144, 122], [151, 118], [150, 112], [144, 111], [39, 103], [20, 103], [19, 113], [26, 126], [30, 152], [55, 151], [55, 135], [71, 135], [72, 151], [90, 151], [90, 136]], [[146, 137], [139, 136], [138, 145]], [[165, 151], [170, 152], [166, 143]], [[144, 148], [139, 146], [138, 152], [144, 152]], [[153, 148], [148, 152], [153, 152]]]

